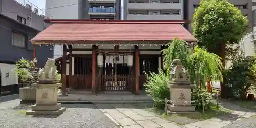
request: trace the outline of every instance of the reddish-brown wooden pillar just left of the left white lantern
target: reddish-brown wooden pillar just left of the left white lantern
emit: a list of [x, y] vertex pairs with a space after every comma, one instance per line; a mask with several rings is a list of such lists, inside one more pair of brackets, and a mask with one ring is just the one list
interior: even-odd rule
[[96, 94], [95, 80], [96, 80], [96, 45], [92, 49], [92, 92]]

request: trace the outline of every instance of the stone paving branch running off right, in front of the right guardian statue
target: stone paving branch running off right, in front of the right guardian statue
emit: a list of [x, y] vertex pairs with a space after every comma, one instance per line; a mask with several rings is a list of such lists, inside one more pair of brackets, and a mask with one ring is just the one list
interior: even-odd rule
[[220, 127], [227, 126], [228, 124], [237, 122], [243, 118], [248, 118], [256, 114], [255, 111], [241, 108], [237, 105], [231, 104], [230, 102], [221, 102], [220, 104], [227, 109], [233, 110], [233, 112], [226, 116], [220, 116], [217, 118], [211, 118], [211, 119], [199, 121], [196, 123], [190, 123], [185, 125], [185, 127], [187, 128], [199, 128], [199, 127], [220, 128]]

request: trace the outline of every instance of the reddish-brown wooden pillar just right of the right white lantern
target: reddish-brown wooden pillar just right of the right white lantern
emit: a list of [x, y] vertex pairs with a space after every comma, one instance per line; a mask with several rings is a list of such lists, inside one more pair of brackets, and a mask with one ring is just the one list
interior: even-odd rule
[[135, 46], [135, 94], [139, 95], [139, 46]]

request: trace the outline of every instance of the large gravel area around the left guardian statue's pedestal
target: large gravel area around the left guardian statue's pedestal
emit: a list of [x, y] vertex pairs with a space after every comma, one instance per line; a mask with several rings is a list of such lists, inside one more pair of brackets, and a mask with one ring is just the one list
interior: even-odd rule
[[27, 116], [29, 106], [19, 106], [18, 99], [0, 102], [0, 128], [76, 128], [76, 127], [116, 127], [92, 104], [62, 104], [66, 111], [60, 116]]

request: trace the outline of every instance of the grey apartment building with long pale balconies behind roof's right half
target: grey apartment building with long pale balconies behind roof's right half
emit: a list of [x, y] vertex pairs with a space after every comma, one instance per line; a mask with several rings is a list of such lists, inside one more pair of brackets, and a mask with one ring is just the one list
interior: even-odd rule
[[124, 0], [124, 20], [183, 20], [183, 0]]

